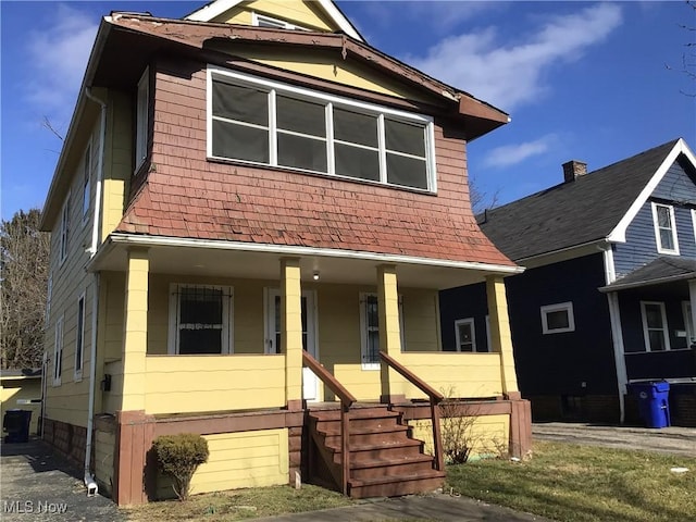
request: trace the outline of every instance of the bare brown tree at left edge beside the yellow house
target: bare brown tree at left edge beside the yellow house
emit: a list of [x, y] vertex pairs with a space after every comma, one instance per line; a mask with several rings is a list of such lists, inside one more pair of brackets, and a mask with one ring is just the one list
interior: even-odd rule
[[20, 210], [0, 222], [0, 366], [38, 368], [49, 272], [49, 234], [41, 212]]

